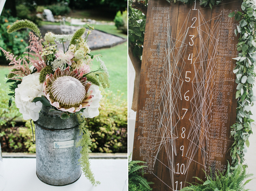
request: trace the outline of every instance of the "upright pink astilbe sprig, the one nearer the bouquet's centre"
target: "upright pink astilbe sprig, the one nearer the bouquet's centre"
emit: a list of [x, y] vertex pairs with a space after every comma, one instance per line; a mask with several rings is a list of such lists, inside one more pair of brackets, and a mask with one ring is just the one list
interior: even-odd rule
[[26, 59], [30, 60], [30, 64], [33, 65], [38, 72], [40, 72], [44, 67], [46, 67], [45, 61], [43, 57], [39, 54], [39, 52], [42, 51], [43, 46], [42, 46], [42, 41], [43, 39], [40, 39], [36, 37], [33, 32], [29, 32], [29, 46], [27, 48], [30, 49], [29, 53], [25, 52], [26, 54], [30, 54], [32, 56], [35, 56], [36, 59], [33, 59], [31, 57], [25, 56]]

